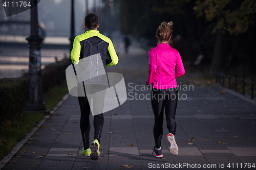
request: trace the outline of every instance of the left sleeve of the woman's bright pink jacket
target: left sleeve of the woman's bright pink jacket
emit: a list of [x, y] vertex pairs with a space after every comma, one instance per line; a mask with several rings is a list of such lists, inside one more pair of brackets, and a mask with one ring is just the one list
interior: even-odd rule
[[157, 56], [155, 50], [150, 50], [148, 52], [148, 79], [146, 81], [147, 84], [151, 84], [153, 80], [155, 79], [155, 74], [157, 70]]

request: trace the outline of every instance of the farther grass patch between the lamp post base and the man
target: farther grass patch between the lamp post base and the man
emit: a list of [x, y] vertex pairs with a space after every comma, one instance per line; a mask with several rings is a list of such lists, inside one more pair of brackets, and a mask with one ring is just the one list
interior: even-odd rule
[[63, 98], [65, 94], [69, 92], [67, 82], [63, 82], [60, 85], [50, 88], [47, 93], [44, 94], [44, 102], [48, 110], [52, 110], [54, 106]]

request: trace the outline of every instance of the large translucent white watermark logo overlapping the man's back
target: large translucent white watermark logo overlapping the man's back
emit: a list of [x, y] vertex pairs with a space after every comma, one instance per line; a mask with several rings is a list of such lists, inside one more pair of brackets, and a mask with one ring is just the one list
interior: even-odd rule
[[123, 75], [105, 72], [100, 54], [68, 66], [66, 79], [70, 95], [87, 96], [93, 116], [113, 110], [127, 100]]

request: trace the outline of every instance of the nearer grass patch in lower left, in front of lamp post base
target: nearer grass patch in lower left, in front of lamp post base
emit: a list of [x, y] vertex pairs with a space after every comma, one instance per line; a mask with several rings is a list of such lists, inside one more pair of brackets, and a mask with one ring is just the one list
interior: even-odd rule
[[0, 133], [0, 160], [44, 117], [44, 113], [23, 113], [18, 118], [2, 123]]

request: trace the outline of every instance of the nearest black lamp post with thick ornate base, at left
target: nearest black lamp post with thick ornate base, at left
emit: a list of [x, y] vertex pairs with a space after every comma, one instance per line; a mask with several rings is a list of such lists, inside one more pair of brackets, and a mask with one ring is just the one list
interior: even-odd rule
[[29, 101], [26, 104], [27, 112], [49, 113], [42, 101], [42, 76], [41, 76], [41, 41], [39, 36], [37, 5], [30, 9], [30, 36], [26, 38], [29, 43]]

